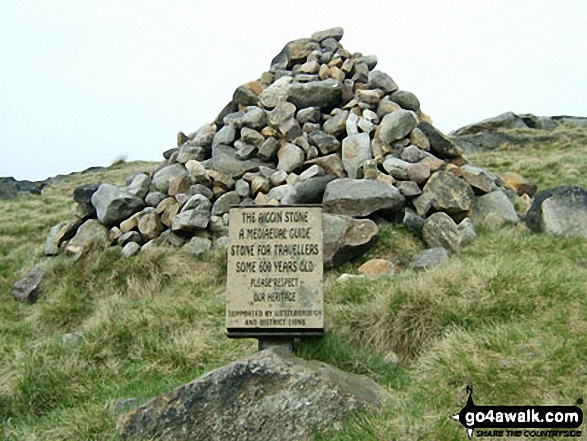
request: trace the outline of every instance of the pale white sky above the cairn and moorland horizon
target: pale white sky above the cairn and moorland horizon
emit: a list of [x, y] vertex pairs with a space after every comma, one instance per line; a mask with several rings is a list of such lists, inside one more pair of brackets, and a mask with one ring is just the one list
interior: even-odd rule
[[0, 0], [0, 176], [160, 160], [289, 41], [342, 26], [439, 129], [587, 116], [585, 0]]

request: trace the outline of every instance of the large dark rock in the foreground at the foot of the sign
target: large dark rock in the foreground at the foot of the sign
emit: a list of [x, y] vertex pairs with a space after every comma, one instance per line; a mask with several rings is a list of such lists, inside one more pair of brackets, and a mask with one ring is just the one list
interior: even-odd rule
[[145, 403], [117, 429], [127, 440], [310, 440], [387, 396], [369, 378], [268, 349]]

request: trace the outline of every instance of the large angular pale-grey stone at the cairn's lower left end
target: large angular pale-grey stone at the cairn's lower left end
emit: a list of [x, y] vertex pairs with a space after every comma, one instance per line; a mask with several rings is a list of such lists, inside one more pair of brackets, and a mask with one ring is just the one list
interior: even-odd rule
[[92, 205], [96, 208], [100, 222], [111, 227], [142, 210], [145, 203], [115, 185], [102, 184], [92, 195]]

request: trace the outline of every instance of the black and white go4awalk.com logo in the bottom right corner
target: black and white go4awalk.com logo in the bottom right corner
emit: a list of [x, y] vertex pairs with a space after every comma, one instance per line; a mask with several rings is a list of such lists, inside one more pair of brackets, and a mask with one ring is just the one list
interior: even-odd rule
[[581, 437], [583, 411], [577, 406], [477, 406], [471, 386], [467, 386], [467, 393], [467, 404], [451, 418], [467, 429], [469, 439], [473, 434], [492, 438]]

